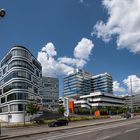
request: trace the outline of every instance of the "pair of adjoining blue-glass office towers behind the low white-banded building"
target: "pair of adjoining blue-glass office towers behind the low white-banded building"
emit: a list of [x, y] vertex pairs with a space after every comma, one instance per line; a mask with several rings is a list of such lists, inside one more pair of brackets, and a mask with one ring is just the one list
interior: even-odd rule
[[64, 78], [64, 96], [69, 98], [88, 95], [91, 92], [112, 94], [112, 88], [112, 76], [108, 73], [93, 76], [88, 72], [75, 70]]

